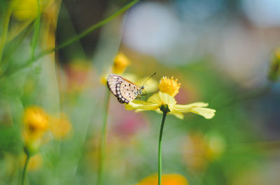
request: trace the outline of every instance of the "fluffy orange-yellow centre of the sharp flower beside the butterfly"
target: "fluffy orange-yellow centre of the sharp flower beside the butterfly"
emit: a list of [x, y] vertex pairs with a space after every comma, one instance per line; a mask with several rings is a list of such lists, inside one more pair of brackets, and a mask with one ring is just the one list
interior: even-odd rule
[[181, 84], [178, 83], [178, 79], [174, 80], [173, 76], [170, 79], [168, 77], [162, 77], [160, 84], [158, 84], [160, 91], [173, 97], [179, 93], [180, 86]]

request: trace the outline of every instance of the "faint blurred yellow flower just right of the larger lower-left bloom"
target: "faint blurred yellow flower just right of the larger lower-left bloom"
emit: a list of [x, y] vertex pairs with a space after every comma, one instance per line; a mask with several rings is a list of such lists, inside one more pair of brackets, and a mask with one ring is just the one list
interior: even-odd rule
[[66, 115], [60, 114], [60, 117], [50, 117], [50, 130], [55, 139], [62, 140], [71, 132], [72, 126]]

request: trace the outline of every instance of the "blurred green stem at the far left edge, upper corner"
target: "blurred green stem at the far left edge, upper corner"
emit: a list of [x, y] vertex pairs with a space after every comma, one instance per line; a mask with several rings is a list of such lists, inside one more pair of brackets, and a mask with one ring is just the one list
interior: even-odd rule
[[[3, 9], [3, 8], [1, 8]], [[2, 56], [3, 56], [3, 50], [5, 47], [5, 43], [6, 43], [6, 37], [7, 37], [7, 33], [8, 33], [8, 25], [10, 22], [10, 15], [12, 13], [12, 9], [13, 6], [11, 4], [8, 4], [8, 9], [6, 11], [3, 12], [3, 20], [2, 20], [2, 24], [0, 25], [0, 33], [1, 33], [1, 39], [0, 39], [0, 74], [3, 73], [2, 71]]]

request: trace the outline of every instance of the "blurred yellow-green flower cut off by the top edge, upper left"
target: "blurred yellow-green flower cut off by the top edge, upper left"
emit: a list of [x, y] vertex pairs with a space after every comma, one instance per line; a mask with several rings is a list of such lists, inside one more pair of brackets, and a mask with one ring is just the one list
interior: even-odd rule
[[[41, 2], [41, 0], [40, 0]], [[41, 6], [41, 3], [40, 3]], [[20, 21], [33, 20], [38, 15], [37, 0], [15, 0], [13, 1], [13, 17]]]

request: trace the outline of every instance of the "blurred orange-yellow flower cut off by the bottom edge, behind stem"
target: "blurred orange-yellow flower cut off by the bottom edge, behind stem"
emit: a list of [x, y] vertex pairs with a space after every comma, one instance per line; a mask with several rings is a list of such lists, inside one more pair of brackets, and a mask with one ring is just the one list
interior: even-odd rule
[[[162, 185], [187, 185], [188, 181], [185, 177], [179, 174], [162, 175]], [[135, 185], [158, 185], [158, 175], [151, 175], [141, 180]]]

